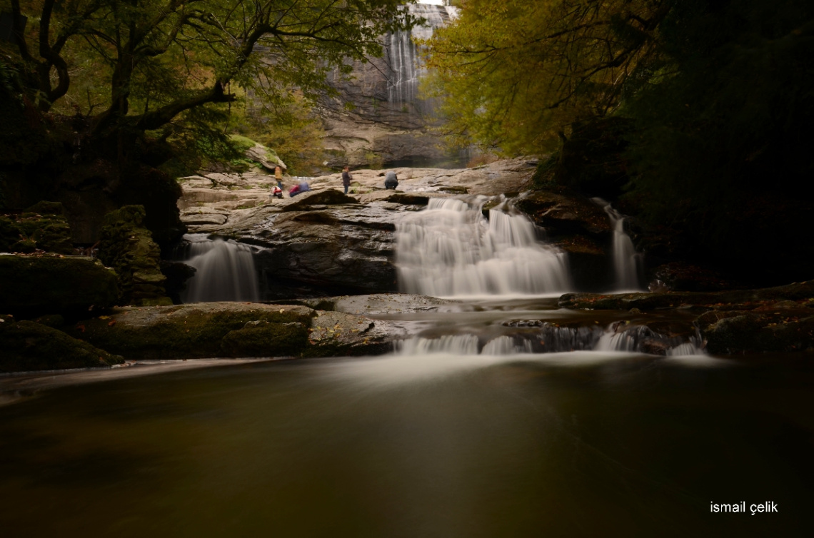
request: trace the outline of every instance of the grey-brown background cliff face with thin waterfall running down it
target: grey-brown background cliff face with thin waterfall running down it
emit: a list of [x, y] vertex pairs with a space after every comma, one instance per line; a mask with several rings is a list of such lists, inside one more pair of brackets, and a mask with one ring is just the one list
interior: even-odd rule
[[430, 37], [456, 16], [457, 8], [416, 4], [410, 11], [426, 22], [411, 32], [383, 36], [383, 57], [353, 63], [351, 81], [332, 74], [339, 98], [326, 100], [322, 111], [325, 147], [334, 155], [330, 165], [426, 165], [456, 157], [428, 131], [439, 120], [435, 103], [420, 95], [426, 70], [414, 39]]

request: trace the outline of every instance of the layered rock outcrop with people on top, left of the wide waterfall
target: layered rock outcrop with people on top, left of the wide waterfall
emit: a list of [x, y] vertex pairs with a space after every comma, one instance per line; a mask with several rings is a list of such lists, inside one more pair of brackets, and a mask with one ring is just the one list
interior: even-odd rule
[[274, 177], [209, 174], [182, 181], [179, 205], [190, 231], [263, 247], [255, 260], [265, 300], [389, 292], [396, 291], [394, 232], [405, 212], [460, 190], [473, 197], [522, 190], [535, 165], [519, 159], [454, 170], [395, 168], [395, 192], [384, 190], [382, 170], [356, 170], [347, 196], [340, 175], [331, 174], [283, 199], [269, 197]]

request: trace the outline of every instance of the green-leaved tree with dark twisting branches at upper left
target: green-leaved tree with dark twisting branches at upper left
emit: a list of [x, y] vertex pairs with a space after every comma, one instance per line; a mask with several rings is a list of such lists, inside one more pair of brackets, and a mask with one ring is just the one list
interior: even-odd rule
[[277, 100], [329, 91], [326, 72], [380, 55], [377, 37], [412, 24], [399, 0], [11, 0], [11, 11], [26, 101], [72, 105], [90, 118], [86, 136], [115, 135], [119, 155], [127, 133], [233, 102], [233, 82]]

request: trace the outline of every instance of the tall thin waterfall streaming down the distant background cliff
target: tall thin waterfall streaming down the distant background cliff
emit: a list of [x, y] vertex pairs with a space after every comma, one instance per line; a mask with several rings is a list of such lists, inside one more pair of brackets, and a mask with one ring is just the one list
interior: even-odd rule
[[457, 16], [457, 7], [431, 4], [413, 4], [412, 15], [427, 22], [410, 32], [396, 32], [386, 39], [387, 58], [391, 73], [387, 83], [387, 102], [392, 104], [418, 103], [418, 81], [425, 72], [418, 55], [415, 39], [428, 39], [435, 28], [440, 28]]

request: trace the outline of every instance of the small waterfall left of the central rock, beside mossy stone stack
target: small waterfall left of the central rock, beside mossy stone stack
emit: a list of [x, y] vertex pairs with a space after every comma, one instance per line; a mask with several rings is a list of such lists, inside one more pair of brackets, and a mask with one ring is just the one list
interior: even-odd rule
[[182, 293], [185, 303], [208, 301], [257, 301], [257, 285], [252, 248], [204, 234], [187, 234], [190, 241], [186, 265], [195, 267], [195, 276]]

